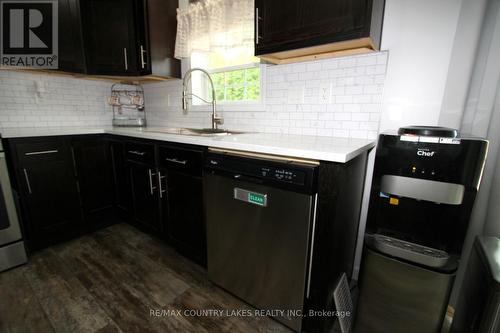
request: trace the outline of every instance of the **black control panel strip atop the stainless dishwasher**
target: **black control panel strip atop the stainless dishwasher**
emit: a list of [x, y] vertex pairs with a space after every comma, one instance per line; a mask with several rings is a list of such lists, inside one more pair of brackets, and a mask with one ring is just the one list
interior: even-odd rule
[[246, 158], [226, 154], [208, 154], [205, 167], [232, 174], [235, 178], [251, 177], [260, 181], [312, 187], [316, 166], [281, 161]]

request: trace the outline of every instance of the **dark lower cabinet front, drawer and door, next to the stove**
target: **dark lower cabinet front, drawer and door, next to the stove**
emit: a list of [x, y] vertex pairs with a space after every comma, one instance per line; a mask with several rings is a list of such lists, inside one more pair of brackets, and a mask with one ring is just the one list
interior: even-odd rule
[[42, 247], [80, 234], [80, 200], [66, 141], [37, 140], [14, 147], [30, 247]]

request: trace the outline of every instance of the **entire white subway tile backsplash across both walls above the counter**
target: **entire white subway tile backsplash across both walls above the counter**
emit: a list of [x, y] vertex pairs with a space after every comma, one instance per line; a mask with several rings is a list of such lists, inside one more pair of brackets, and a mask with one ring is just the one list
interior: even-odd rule
[[[228, 128], [302, 135], [376, 138], [387, 53], [287, 65], [265, 71], [265, 100], [221, 105]], [[37, 96], [35, 81], [46, 92]], [[0, 127], [108, 126], [110, 83], [0, 71]], [[209, 127], [210, 112], [183, 112], [179, 80], [144, 86], [150, 126]], [[250, 110], [250, 111], [249, 111]]]

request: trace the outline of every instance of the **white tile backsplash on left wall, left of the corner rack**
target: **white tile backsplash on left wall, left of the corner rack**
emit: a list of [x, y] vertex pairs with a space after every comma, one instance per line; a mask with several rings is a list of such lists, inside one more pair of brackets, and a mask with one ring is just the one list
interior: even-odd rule
[[0, 128], [111, 125], [110, 88], [109, 82], [0, 70]]

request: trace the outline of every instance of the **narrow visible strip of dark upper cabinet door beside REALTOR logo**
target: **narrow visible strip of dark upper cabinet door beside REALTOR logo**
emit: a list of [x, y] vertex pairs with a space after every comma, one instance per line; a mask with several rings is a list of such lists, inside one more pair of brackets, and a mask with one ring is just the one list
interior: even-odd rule
[[79, 2], [79, 0], [58, 1], [59, 69], [65, 72], [85, 72]]

